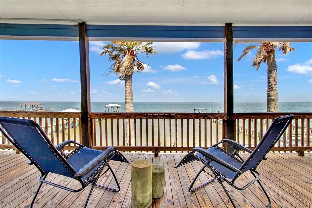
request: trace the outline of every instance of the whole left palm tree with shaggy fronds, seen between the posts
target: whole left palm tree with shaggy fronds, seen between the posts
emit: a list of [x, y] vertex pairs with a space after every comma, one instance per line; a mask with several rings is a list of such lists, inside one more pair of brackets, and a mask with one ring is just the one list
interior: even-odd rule
[[[150, 46], [153, 42], [126, 42], [113, 41], [103, 46], [103, 52], [100, 56], [107, 55], [111, 62], [114, 62], [110, 68], [109, 73], [113, 72], [119, 74], [119, 80], [124, 80], [124, 100], [125, 111], [133, 112], [133, 92], [132, 92], [132, 75], [135, 70], [142, 72], [144, 70], [144, 63], [141, 62], [137, 54], [145, 53], [146, 56], [155, 55], [154, 47]], [[127, 122], [128, 124], [128, 122]], [[130, 121], [127, 128], [127, 138], [129, 140], [129, 131], [131, 131], [131, 144], [134, 144], [134, 121]], [[128, 141], [127, 140], [127, 141]]]

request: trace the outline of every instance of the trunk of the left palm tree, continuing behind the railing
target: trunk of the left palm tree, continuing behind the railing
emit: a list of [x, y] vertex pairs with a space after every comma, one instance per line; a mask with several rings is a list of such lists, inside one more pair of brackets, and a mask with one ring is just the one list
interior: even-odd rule
[[[125, 100], [125, 111], [133, 112], [133, 92], [132, 92], [132, 75], [124, 76], [124, 100]], [[126, 133], [127, 141], [129, 141], [129, 130], [131, 132], [131, 140], [129, 146], [134, 146], [134, 119], [130, 119], [130, 129], [129, 121], [126, 120]]]

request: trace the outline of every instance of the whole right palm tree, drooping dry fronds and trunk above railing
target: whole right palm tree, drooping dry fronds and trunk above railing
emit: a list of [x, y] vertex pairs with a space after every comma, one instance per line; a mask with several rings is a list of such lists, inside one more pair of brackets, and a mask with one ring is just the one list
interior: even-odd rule
[[[258, 46], [259, 45], [259, 46]], [[252, 63], [252, 67], [259, 69], [262, 62], [266, 62], [268, 66], [267, 72], [267, 94], [266, 94], [266, 111], [267, 112], [278, 112], [278, 96], [277, 96], [277, 65], [275, 60], [276, 47], [280, 46], [280, 51], [286, 55], [290, 51], [294, 51], [295, 48], [290, 47], [289, 42], [258, 42], [254, 45], [247, 46], [238, 61], [242, 57], [247, 55], [250, 50], [258, 46], [257, 54]]]

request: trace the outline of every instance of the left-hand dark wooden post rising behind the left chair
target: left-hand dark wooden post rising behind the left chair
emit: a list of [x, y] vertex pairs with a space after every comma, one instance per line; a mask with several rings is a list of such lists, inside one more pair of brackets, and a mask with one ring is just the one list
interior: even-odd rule
[[90, 68], [89, 68], [89, 40], [85, 22], [79, 23], [79, 52], [80, 52], [80, 86], [81, 86], [81, 143], [91, 146], [90, 112]]

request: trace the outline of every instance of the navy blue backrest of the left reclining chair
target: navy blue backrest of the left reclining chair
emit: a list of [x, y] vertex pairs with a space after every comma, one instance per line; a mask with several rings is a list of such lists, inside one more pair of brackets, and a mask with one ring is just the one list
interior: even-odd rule
[[8, 140], [34, 162], [41, 172], [51, 172], [73, 178], [75, 173], [72, 167], [35, 121], [0, 117], [0, 124], [1, 132], [4, 135], [7, 135], [7, 132]]

